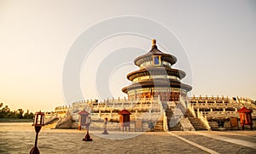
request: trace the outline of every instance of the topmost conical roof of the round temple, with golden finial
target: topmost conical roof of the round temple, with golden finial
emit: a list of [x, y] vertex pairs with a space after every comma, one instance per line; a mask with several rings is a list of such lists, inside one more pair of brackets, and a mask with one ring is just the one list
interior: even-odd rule
[[177, 62], [177, 58], [172, 55], [172, 54], [165, 54], [163, 52], [161, 52], [157, 46], [156, 46], [156, 41], [155, 39], [152, 40], [152, 48], [150, 51], [148, 51], [147, 54], [143, 54], [139, 57], [137, 57], [135, 60], [134, 60], [134, 63], [137, 65], [137, 66], [140, 66], [141, 64], [143, 64], [143, 62], [146, 62], [146, 61], [150, 61], [152, 60], [152, 55], [160, 55], [161, 56], [161, 60], [162, 61], [167, 61], [169, 62], [171, 65], [175, 64]]

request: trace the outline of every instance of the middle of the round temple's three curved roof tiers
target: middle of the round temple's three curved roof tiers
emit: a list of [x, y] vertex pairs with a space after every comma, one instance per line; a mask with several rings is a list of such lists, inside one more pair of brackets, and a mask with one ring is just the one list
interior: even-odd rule
[[132, 81], [134, 78], [150, 76], [150, 75], [169, 75], [179, 77], [183, 79], [186, 76], [186, 73], [181, 70], [172, 69], [169, 67], [161, 67], [161, 66], [153, 66], [153, 67], [145, 67], [138, 71], [132, 71], [127, 75], [128, 80]]

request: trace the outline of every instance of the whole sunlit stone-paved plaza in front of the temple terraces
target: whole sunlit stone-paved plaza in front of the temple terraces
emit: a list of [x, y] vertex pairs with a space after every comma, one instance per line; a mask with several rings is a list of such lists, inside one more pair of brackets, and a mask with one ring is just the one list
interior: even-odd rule
[[[6, 124], [4, 124], [6, 125]], [[28, 153], [35, 140], [34, 128], [1, 125], [0, 153]], [[256, 153], [256, 131], [172, 131], [91, 133], [84, 142], [84, 130], [43, 128], [38, 148], [44, 153]], [[103, 136], [104, 138], [100, 137]], [[131, 137], [135, 135], [136, 137]], [[125, 140], [109, 140], [109, 138]], [[106, 139], [106, 137], [108, 139]]]

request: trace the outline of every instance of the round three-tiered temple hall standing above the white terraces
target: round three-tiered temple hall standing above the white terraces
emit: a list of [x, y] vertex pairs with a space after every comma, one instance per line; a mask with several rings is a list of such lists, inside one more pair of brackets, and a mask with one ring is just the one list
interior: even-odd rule
[[161, 52], [153, 40], [151, 50], [134, 60], [140, 69], [127, 75], [132, 83], [122, 91], [131, 100], [160, 96], [163, 101], [177, 101], [185, 97], [192, 87], [181, 83], [186, 73], [172, 68], [176, 62], [175, 56]]

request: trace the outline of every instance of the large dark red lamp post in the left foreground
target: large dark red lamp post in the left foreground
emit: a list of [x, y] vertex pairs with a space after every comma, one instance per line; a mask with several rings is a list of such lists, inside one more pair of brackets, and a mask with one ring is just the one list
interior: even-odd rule
[[40, 151], [38, 149], [38, 133], [40, 132], [42, 126], [44, 126], [44, 112], [38, 111], [35, 113], [34, 123], [32, 124], [32, 126], [35, 127], [36, 140], [35, 145], [32, 147], [32, 150], [30, 151], [30, 154], [39, 154]]

